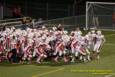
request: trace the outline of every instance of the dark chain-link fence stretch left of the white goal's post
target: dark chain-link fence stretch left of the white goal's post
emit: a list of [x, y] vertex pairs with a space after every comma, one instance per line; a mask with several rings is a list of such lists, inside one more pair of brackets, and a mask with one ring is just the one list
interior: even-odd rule
[[74, 29], [76, 27], [84, 28], [85, 15], [47, 20], [45, 21], [45, 24], [47, 24], [47, 27], [52, 27], [52, 26], [57, 26], [58, 24], [62, 24], [66, 29]]

